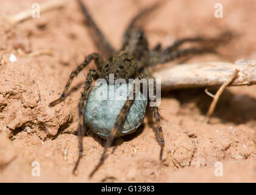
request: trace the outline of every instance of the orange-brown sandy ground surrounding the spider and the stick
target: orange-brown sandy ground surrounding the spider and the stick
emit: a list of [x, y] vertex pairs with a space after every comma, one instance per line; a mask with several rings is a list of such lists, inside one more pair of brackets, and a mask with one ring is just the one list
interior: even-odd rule
[[[84, 137], [84, 158], [77, 174], [71, 174], [77, 158], [77, 99], [88, 69], [74, 80], [65, 102], [52, 108], [48, 104], [62, 93], [77, 63], [96, 48], [75, 1], [16, 26], [4, 19], [34, 2], [9, 0], [0, 7], [0, 55], [6, 61], [0, 66], [0, 182], [256, 182], [256, 86], [226, 90], [210, 124], [201, 122], [212, 100], [204, 89], [162, 92], [163, 161], [158, 159], [160, 146], [149, 110], [137, 132], [115, 140], [92, 179], [88, 174], [104, 141], [92, 133]], [[132, 16], [153, 3], [85, 2], [115, 48], [121, 46]], [[216, 2], [223, 4], [223, 18], [214, 17]], [[222, 57], [209, 54], [188, 63], [256, 59], [255, 9], [255, 0], [173, 0], [148, 19], [145, 29], [151, 47], [229, 29], [240, 36], [222, 48]], [[40, 49], [53, 55], [27, 57], [19, 52]], [[10, 54], [16, 62], [9, 62]], [[32, 165], [40, 165], [40, 177], [32, 176]], [[223, 176], [216, 177], [221, 168]]]

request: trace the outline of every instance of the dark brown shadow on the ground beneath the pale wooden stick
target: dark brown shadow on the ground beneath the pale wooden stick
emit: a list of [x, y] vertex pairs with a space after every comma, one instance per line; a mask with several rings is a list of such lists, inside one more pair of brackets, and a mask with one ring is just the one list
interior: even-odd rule
[[[217, 88], [210, 88], [209, 91], [216, 93]], [[162, 97], [175, 97], [182, 108], [187, 108], [188, 104], [196, 105], [201, 115], [206, 115], [212, 102], [204, 89], [173, 90], [162, 93]], [[194, 110], [189, 111], [193, 115]], [[232, 122], [234, 124], [244, 124], [256, 120], [256, 99], [247, 94], [236, 94], [230, 90], [225, 90], [219, 98], [215, 112], [212, 117], [219, 118], [222, 122]]]

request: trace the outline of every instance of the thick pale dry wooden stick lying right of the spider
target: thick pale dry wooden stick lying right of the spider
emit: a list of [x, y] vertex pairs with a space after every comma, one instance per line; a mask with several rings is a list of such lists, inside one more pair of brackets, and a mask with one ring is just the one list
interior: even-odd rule
[[162, 90], [209, 88], [221, 86], [235, 72], [235, 69], [240, 71], [230, 86], [256, 83], [256, 60], [170, 65], [155, 71], [153, 76], [161, 79]]

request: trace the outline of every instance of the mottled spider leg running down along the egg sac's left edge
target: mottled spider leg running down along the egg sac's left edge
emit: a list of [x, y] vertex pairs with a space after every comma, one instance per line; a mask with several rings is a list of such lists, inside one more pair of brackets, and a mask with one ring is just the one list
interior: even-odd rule
[[76, 161], [76, 165], [73, 169], [73, 174], [75, 173], [77, 166], [79, 165], [79, 161], [82, 158], [83, 155], [83, 136], [85, 134], [86, 126], [84, 125], [84, 110], [86, 106], [86, 101], [88, 98], [88, 93], [91, 87], [91, 83], [93, 82], [93, 79], [96, 79], [96, 77], [99, 76], [97, 71], [95, 69], [90, 69], [87, 74], [87, 80], [85, 81], [84, 85], [84, 91], [82, 93], [82, 96], [79, 101], [79, 124], [78, 124], [78, 148], [79, 148], [79, 155]]

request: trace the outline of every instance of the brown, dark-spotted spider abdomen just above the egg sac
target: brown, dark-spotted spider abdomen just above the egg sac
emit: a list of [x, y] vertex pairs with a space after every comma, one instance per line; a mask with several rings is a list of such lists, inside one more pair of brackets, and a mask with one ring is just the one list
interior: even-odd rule
[[116, 79], [134, 79], [138, 73], [136, 60], [132, 54], [126, 51], [117, 52], [108, 59], [101, 69], [102, 78], [109, 81], [109, 74], [114, 74]]

